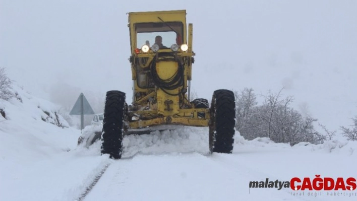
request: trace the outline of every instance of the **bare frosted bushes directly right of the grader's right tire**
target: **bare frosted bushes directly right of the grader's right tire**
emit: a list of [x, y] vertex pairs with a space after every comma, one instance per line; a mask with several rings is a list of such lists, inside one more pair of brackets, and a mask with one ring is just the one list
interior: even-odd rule
[[[252, 89], [245, 89], [237, 97], [237, 125], [241, 135], [247, 140], [267, 137], [276, 143], [296, 144], [310, 142], [323, 143], [326, 139], [315, 130], [313, 123], [317, 119], [303, 115], [290, 107], [292, 96], [281, 97], [281, 91], [272, 94], [270, 91], [262, 105], [257, 106]], [[254, 95], [254, 94], [253, 94]]]

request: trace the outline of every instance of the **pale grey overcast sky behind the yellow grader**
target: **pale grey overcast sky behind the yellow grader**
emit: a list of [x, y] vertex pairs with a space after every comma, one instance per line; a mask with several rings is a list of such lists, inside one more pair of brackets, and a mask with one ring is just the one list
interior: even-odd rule
[[193, 23], [192, 89], [199, 97], [210, 100], [221, 88], [266, 94], [285, 86], [283, 96], [294, 96], [296, 109], [307, 108], [329, 129], [357, 115], [355, 0], [0, 0], [0, 66], [53, 102], [74, 104], [80, 91], [108, 90], [131, 100], [126, 13], [183, 9]]

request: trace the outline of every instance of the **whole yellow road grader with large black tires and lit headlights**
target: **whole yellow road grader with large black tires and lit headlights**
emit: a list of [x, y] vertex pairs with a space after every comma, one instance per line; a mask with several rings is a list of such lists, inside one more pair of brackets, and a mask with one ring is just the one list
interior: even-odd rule
[[[129, 13], [133, 97], [108, 91], [104, 106], [101, 153], [120, 159], [125, 135], [139, 135], [175, 125], [208, 126], [210, 152], [231, 153], [235, 125], [232, 91], [216, 90], [190, 100], [195, 53], [193, 25], [186, 10]], [[192, 133], [194, 135], [194, 133]]]

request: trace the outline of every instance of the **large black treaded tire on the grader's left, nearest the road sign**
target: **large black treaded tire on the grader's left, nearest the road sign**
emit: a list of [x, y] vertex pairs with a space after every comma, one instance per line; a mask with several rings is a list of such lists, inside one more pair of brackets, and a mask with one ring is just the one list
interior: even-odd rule
[[105, 98], [101, 153], [120, 159], [123, 153], [125, 93], [108, 91]]

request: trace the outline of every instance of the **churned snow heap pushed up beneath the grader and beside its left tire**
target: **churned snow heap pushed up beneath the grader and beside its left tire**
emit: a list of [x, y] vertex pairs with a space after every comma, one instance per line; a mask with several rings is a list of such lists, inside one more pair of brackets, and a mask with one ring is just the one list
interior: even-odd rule
[[[88, 148], [89, 152], [97, 151], [100, 154], [101, 126], [86, 126], [80, 137], [78, 149]], [[174, 153], [198, 152], [207, 154], [208, 128], [176, 126], [176, 129], [152, 131], [150, 134], [124, 136], [123, 158], [133, 157], [136, 154], [162, 155]]]

